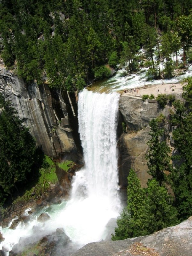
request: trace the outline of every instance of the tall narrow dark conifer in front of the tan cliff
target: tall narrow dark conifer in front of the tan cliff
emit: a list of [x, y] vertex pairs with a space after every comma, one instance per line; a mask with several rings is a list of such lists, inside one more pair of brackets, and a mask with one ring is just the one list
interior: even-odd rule
[[152, 119], [149, 123], [152, 132], [151, 139], [148, 141], [149, 151], [146, 155], [148, 160], [148, 174], [157, 180], [160, 186], [167, 180], [165, 171], [170, 172], [170, 148], [165, 141], [160, 141], [164, 129], [159, 127], [158, 119]]

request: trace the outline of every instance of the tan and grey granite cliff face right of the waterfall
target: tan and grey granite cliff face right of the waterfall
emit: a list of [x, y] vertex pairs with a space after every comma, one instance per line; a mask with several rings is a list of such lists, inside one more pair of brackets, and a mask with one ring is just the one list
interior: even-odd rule
[[[181, 94], [176, 95], [181, 98]], [[170, 127], [170, 110], [174, 109], [166, 106], [164, 109], [159, 107], [156, 100], [142, 101], [141, 97], [123, 94], [119, 100], [120, 120], [126, 123], [126, 132], [124, 132], [118, 140], [119, 148], [119, 183], [121, 186], [127, 186], [127, 176], [129, 170], [133, 168], [141, 180], [141, 186], [145, 187], [149, 175], [147, 174], [147, 141], [150, 139], [149, 122], [152, 118], [156, 118], [163, 114], [166, 118], [164, 124], [166, 130], [166, 140], [172, 149], [174, 144], [172, 141], [172, 131], [174, 127]], [[120, 124], [121, 125], [121, 124]]]

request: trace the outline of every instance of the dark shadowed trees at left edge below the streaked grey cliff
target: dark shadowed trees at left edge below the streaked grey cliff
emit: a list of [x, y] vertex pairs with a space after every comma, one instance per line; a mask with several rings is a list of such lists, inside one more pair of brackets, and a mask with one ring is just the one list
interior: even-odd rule
[[2, 94], [0, 108], [0, 192], [6, 198], [12, 195], [14, 187], [27, 182], [35, 162], [36, 145]]

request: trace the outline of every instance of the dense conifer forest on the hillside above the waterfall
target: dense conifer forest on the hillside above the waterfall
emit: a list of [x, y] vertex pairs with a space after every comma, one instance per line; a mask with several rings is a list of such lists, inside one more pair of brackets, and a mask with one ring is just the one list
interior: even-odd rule
[[164, 58], [171, 77], [180, 48], [183, 65], [192, 60], [191, 8], [192, 0], [1, 0], [1, 57], [26, 82], [73, 91], [107, 77], [106, 64], [137, 70], [143, 47], [148, 77], [161, 76]]

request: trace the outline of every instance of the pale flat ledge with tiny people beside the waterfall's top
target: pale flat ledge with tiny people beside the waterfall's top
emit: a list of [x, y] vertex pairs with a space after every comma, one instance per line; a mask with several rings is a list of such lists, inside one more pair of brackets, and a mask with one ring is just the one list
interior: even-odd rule
[[[183, 85], [180, 83], [174, 84], [155, 84], [155, 85], [146, 85], [144, 87], [134, 88], [136, 92], [126, 92], [127, 94], [133, 94], [138, 96], [143, 96], [148, 94], [149, 96], [153, 94], [155, 97], [159, 94], [171, 94], [173, 92], [178, 93], [183, 91]], [[166, 89], [166, 90], [165, 90]], [[174, 89], [174, 90], [173, 90]], [[126, 90], [127, 91], [127, 90]], [[124, 92], [123, 92], [124, 93]]]

